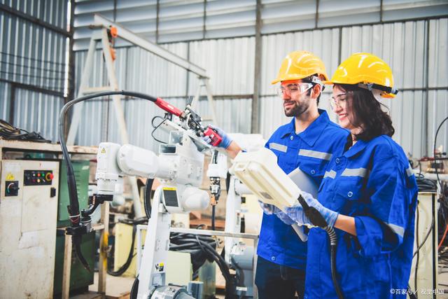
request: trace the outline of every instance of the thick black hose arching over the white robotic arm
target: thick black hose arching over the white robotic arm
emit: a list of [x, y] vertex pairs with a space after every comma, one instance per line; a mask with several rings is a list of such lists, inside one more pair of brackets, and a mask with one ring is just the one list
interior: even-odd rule
[[[89, 265], [86, 263], [85, 258], [83, 257], [83, 253], [80, 250], [80, 242], [83, 230], [79, 230], [80, 226], [80, 211], [79, 211], [79, 202], [78, 202], [78, 189], [76, 188], [76, 177], [73, 172], [73, 165], [71, 163], [69, 151], [67, 150], [67, 146], [65, 144], [64, 139], [64, 120], [66, 112], [71, 108], [71, 106], [78, 104], [79, 102], [86, 101], [87, 99], [94, 99], [96, 97], [106, 97], [109, 95], [125, 95], [130, 97], [139, 97], [141, 99], [147, 99], [151, 102], [156, 102], [157, 99], [155, 97], [151, 97], [149, 95], [145, 95], [140, 92], [128, 92], [125, 90], [118, 91], [106, 91], [106, 92], [97, 92], [92, 95], [85, 95], [84, 97], [78, 97], [76, 99], [72, 99], [70, 102], [66, 103], [59, 113], [59, 143], [62, 148], [62, 155], [66, 162], [66, 172], [67, 172], [67, 184], [69, 187], [69, 219], [71, 222], [71, 229], [73, 232], [72, 242], [75, 245], [76, 255], [78, 256], [80, 262], [83, 264], [86, 269], [89, 269]], [[81, 227], [82, 228], [82, 227]], [[80, 234], [80, 235], [76, 235]]]

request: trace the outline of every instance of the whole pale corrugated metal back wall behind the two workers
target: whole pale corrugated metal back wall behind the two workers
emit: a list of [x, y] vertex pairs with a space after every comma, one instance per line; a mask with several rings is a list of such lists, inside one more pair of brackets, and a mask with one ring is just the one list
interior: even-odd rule
[[[205, 26], [202, 27], [200, 19], [204, 18], [203, 1], [189, 1], [186, 4], [183, 1], [131, 3], [118, 0], [116, 8], [111, 2], [95, 1], [97, 6], [93, 6], [90, 1], [77, 2], [76, 25], [80, 34], [76, 36], [78, 49], [88, 42], [86, 26], [92, 22], [94, 12], [102, 13], [106, 18], [115, 18], [125, 27], [153, 41], [192, 40], [165, 43], [162, 46], [207, 70], [217, 99], [218, 121], [225, 130], [250, 132], [255, 69], [255, 1], [207, 1], [203, 20]], [[160, 10], [159, 25], [156, 24], [157, 6]], [[284, 55], [292, 50], [314, 52], [325, 62], [328, 74], [331, 75], [341, 60], [351, 53], [363, 51], [386, 60], [394, 71], [396, 87], [402, 89], [396, 99], [385, 102], [390, 107], [395, 125], [394, 138], [414, 157], [431, 155], [435, 129], [443, 117], [448, 115], [448, 19], [392, 21], [447, 15], [448, 3], [346, 0], [335, 4], [334, 1], [321, 0], [317, 8], [316, 1], [311, 0], [262, 1], [260, 131], [264, 137], [269, 137], [276, 127], [288, 122], [288, 118], [283, 116], [279, 99], [274, 95], [275, 90], [270, 85]], [[146, 13], [132, 18], [132, 13], [140, 9]], [[347, 12], [351, 15], [350, 20], [346, 18]], [[230, 13], [231, 18], [227, 18], [226, 13]], [[349, 26], [347, 22], [373, 24]], [[232, 36], [237, 25], [241, 26], [243, 35], [249, 37], [207, 39]], [[76, 54], [78, 73], [83, 55], [83, 51]], [[100, 67], [95, 69], [104, 73]], [[184, 97], [195, 95], [199, 84], [195, 75], [134, 47], [118, 50], [117, 69], [120, 70], [119, 82], [123, 88], [162, 95], [171, 101], [179, 101], [177, 103], [180, 107], [183, 106]], [[101, 78], [104, 80], [104, 76]], [[328, 87], [321, 97], [320, 106], [327, 109], [330, 118], [336, 121], [328, 106], [330, 92], [331, 88]], [[201, 95], [205, 95], [204, 89]], [[137, 102], [125, 101], [125, 113], [132, 116], [132, 120], [127, 120], [128, 127], [133, 128], [130, 130], [132, 134], [146, 138], [148, 134], [143, 132], [151, 126], [141, 126], [140, 122], [147, 118], [144, 117], [146, 112], [143, 106]], [[200, 113], [209, 115], [207, 110], [207, 102], [200, 102]], [[158, 113], [157, 109], [151, 110], [151, 116], [155, 113]], [[87, 123], [85, 127], [92, 126]], [[113, 130], [116, 129], [107, 133], [109, 139], [113, 138]], [[438, 144], [443, 143], [445, 148], [448, 143], [447, 131], [442, 130], [437, 141]], [[99, 130], [96, 137], [88, 138], [99, 141], [101, 134], [104, 135], [104, 132]], [[89, 144], [93, 139], [80, 142]], [[151, 138], [148, 141], [137, 139], [137, 144], [155, 148]]]

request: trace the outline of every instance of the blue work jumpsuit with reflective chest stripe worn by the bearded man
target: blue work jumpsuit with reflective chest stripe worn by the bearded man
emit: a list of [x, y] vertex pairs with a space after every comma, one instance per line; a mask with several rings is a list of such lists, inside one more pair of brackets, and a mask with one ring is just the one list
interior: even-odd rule
[[[326, 111], [319, 109], [319, 113], [320, 116], [300, 134], [295, 134], [293, 118], [290, 123], [279, 127], [265, 145], [275, 153], [279, 167], [286, 174], [300, 167], [316, 181], [316, 186], [320, 185], [332, 155], [337, 151], [342, 153], [349, 135], [349, 131], [330, 121]], [[285, 268], [279, 270], [279, 267], [273, 267], [275, 265], [269, 265], [269, 262], [301, 270], [298, 283], [304, 288], [307, 243], [302, 242], [295, 230], [276, 215], [263, 214], [257, 254], [259, 259], [255, 284], [258, 286], [260, 298], [269, 298], [271, 291], [278, 297], [281, 291], [285, 291], [275, 279], [290, 280], [288, 274], [283, 273]], [[262, 262], [265, 262], [265, 266]], [[300, 286], [296, 284], [295, 288]]]

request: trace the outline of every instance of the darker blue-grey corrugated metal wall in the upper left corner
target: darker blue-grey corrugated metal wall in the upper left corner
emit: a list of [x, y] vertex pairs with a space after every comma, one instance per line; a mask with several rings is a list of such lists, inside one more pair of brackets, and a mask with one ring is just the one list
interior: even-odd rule
[[[0, 0], [0, 4], [66, 29], [67, 1]], [[56, 141], [64, 104], [66, 35], [3, 9], [0, 29], [0, 118]]]

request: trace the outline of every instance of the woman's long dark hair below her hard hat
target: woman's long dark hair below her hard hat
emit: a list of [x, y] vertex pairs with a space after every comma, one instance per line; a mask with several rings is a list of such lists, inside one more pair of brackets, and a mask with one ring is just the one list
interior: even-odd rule
[[358, 85], [339, 84], [348, 95], [346, 107], [351, 111], [350, 122], [362, 131], [356, 134], [357, 140], [369, 141], [380, 135], [392, 137], [395, 129], [392, 126], [391, 116], [381, 109], [380, 102], [375, 99], [370, 90], [360, 88]]

